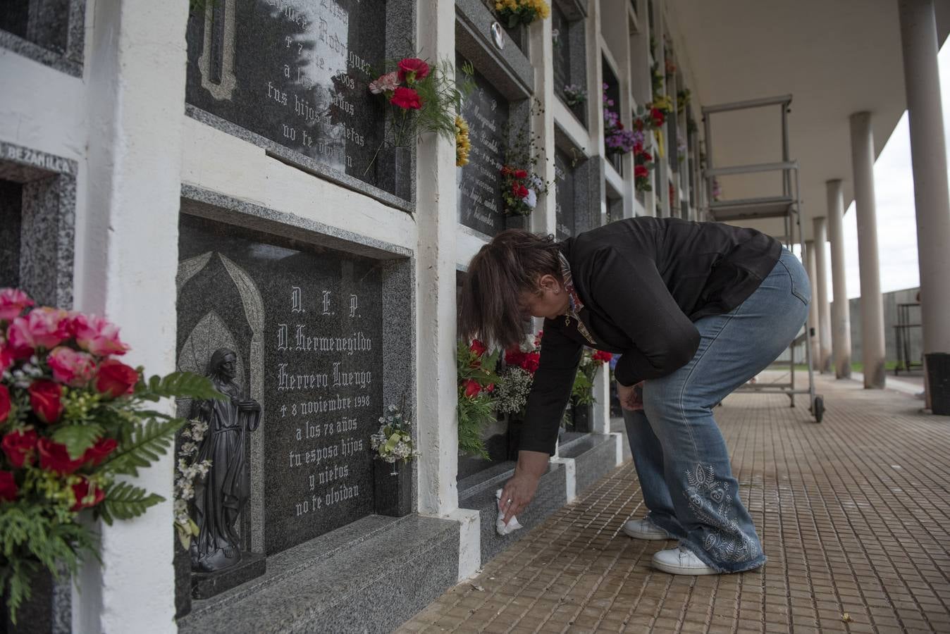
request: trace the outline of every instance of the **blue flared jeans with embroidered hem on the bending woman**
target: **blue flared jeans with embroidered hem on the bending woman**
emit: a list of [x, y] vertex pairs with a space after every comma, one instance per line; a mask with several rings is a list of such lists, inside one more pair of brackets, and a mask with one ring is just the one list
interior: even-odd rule
[[643, 411], [623, 412], [648, 516], [720, 572], [758, 568], [766, 556], [712, 407], [788, 347], [810, 299], [805, 269], [783, 249], [745, 302], [695, 323], [689, 364], [643, 383]]

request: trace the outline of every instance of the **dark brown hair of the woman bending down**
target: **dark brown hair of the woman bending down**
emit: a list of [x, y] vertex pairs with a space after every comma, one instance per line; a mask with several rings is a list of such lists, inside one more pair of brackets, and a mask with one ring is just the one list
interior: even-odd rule
[[519, 295], [537, 292], [538, 278], [561, 279], [558, 244], [553, 235], [509, 229], [496, 235], [468, 264], [460, 303], [460, 335], [507, 347], [524, 336]]

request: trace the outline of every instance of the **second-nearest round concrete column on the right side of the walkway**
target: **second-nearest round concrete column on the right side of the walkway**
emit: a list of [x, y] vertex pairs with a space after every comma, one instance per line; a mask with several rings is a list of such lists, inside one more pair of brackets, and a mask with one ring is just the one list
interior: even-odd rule
[[851, 169], [858, 214], [858, 263], [861, 267], [861, 347], [864, 387], [884, 386], [884, 317], [878, 261], [878, 218], [874, 202], [874, 131], [871, 113], [851, 121]]

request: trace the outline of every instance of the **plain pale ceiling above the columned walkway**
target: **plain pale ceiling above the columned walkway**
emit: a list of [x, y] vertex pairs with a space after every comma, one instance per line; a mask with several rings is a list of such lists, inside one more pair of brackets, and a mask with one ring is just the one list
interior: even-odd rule
[[[942, 43], [950, 0], [936, 5]], [[843, 180], [846, 209], [853, 199], [848, 116], [872, 113], [877, 156], [906, 108], [897, 0], [667, 0], [667, 6], [693, 103], [791, 94], [790, 156], [801, 165], [804, 215], [826, 214], [825, 183], [832, 178]], [[713, 115], [712, 140], [717, 167], [779, 160], [778, 106]], [[721, 181], [725, 198], [781, 194], [777, 176], [764, 189], [746, 177]], [[808, 233], [811, 223], [805, 225]]]

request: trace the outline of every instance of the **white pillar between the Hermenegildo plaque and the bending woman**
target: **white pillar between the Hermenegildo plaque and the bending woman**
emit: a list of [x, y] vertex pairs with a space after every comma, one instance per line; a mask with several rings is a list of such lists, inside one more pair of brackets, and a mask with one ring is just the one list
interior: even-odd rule
[[[420, 3], [417, 15], [419, 50], [433, 61], [455, 59], [455, 6], [427, 0]], [[444, 515], [459, 506], [455, 146], [427, 135], [416, 156], [419, 513]]]

